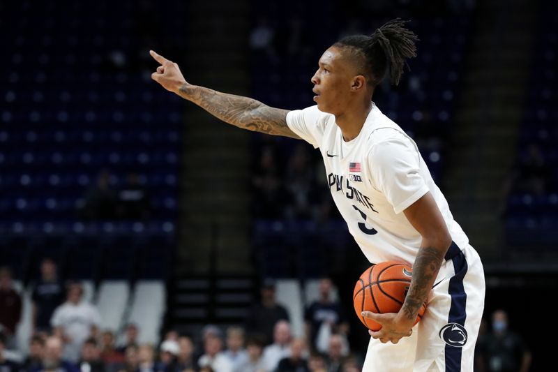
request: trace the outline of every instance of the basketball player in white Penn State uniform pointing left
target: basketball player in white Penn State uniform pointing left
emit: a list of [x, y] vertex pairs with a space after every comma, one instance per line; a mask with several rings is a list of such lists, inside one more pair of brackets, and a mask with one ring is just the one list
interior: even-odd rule
[[[312, 76], [317, 105], [280, 110], [250, 98], [189, 84], [177, 64], [160, 63], [153, 80], [229, 124], [300, 138], [319, 148], [331, 195], [370, 262], [412, 265], [399, 313], [363, 315], [382, 329], [363, 371], [473, 371], [484, 307], [478, 254], [453, 220], [415, 142], [372, 102], [389, 75], [398, 84], [416, 36], [392, 20], [371, 36], [348, 36], [329, 47]], [[421, 304], [428, 307], [413, 327]]]

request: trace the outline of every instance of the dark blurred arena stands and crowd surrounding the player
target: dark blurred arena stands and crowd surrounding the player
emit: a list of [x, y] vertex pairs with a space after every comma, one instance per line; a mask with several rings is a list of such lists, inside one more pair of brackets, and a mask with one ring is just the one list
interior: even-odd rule
[[[260, 371], [239, 366], [246, 346], [265, 359], [267, 344], [288, 355], [307, 336], [309, 370], [361, 371], [352, 291], [369, 263], [319, 152], [165, 91], [149, 50], [192, 84], [294, 110], [314, 105], [327, 47], [395, 17], [418, 55], [373, 99], [417, 142], [483, 260], [476, 370], [555, 370], [550, 0], [1, 0], [0, 370], [58, 358], [66, 372], [211, 371], [217, 352], [213, 371]], [[66, 290], [79, 321], [57, 308]]]

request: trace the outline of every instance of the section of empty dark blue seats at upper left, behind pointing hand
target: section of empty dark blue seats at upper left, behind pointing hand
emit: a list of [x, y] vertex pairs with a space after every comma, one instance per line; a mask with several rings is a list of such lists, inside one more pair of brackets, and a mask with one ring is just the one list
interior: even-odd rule
[[[126, 13], [132, 4], [124, 0], [111, 8]], [[151, 184], [151, 175], [177, 178], [179, 100], [151, 82], [142, 70], [146, 66], [127, 58], [137, 52], [137, 43], [130, 41], [137, 39], [133, 28], [121, 27], [123, 20], [103, 19], [99, 25], [96, 15], [74, 5], [63, 15], [75, 22], [68, 35], [53, 27], [60, 15], [51, 15], [42, 3], [10, 3], [4, 9], [24, 10], [25, 17], [20, 35], [4, 45], [6, 63], [18, 68], [0, 77], [9, 83], [0, 96], [0, 122], [14, 124], [0, 130], [0, 198], [6, 198], [0, 200], [0, 216], [22, 222], [75, 220], [75, 200], [84, 198], [107, 167], [119, 179], [139, 172], [153, 198], [168, 198], [169, 190], [174, 198], [178, 194], [178, 183], [168, 182], [159, 195], [160, 184]], [[6, 27], [1, 23], [0, 31], [8, 32]], [[91, 27], [101, 28], [94, 36], [80, 36], [80, 29]], [[165, 38], [180, 27], [156, 32]], [[68, 69], [78, 64], [79, 72]], [[9, 195], [17, 189], [22, 195]]]

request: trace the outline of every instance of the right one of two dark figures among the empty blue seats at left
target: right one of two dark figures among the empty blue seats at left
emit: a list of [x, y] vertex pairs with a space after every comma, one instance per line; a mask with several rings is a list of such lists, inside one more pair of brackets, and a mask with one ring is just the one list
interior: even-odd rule
[[118, 202], [118, 217], [126, 220], [137, 220], [149, 218], [151, 203], [146, 188], [140, 182], [137, 173], [129, 173], [126, 176], [126, 184], [116, 195]]

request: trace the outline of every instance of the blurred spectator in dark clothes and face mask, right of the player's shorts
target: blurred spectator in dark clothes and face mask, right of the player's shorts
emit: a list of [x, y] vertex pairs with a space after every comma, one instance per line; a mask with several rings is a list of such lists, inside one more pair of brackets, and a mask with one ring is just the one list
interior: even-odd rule
[[492, 333], [478, 341], [479, 372], [527, 372], [531, 352], [522, 338], [508, 329], [508, 315], [503, 310], [492, 313]]

